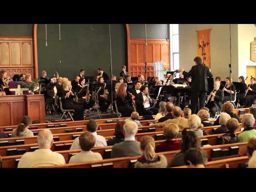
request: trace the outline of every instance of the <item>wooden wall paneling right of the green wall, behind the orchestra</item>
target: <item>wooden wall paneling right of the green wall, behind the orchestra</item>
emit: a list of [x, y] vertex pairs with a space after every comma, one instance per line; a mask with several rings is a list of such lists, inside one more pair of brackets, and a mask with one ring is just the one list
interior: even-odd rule
[[[131, 76], [145, 75], [145, 40], [130, 39], [128, 73]], [[170, 51], [167, 40], [147, 40], [147, 77], [154, 76], [154, 61], [162, 60], [164, 66], [170, 68]]]

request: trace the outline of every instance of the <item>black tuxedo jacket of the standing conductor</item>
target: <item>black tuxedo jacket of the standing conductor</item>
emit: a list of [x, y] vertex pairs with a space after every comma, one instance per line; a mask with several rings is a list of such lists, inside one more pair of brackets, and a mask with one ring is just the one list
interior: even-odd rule
[[208, 91], [207, 77], [212, 77], [212, 73], [210, 72], [210, 69], [207, 66], [203, 64], [197, 64], [192, 66], [189, 72], [184, 71], [182, 74], [184, 75], [184, 78], [188, 76], [192, 77], [192, 92]]

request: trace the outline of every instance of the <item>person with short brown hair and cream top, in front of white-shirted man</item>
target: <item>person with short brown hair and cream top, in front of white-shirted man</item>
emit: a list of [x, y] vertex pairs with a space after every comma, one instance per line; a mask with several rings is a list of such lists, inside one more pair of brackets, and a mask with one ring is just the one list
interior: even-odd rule
[[100, 153], [94, 153], [91, 149], [94, 147], [96, 138], [91, 132], [84, 132], [79, 137], [79, 144], [81, 147], [81, 152], [72, 156], [69, 163], [86, 162], [86, 161], [98, 161], [102, 160]]

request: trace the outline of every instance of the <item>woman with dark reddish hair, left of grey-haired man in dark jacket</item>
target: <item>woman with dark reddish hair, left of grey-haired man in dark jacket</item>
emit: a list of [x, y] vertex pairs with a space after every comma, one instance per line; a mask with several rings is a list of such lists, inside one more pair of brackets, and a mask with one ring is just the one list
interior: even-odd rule
[[120, 143], [124, 141], [124, 124], [125, 121], [118, 121], [115, 126], [115, 137], [107, 140], [108, 146], [114, 145], [116, 143]]

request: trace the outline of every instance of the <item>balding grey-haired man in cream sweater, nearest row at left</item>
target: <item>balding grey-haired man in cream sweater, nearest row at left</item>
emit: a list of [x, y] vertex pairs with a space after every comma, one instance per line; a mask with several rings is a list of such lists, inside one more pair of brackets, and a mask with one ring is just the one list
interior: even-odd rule
[[52, 132], [44, 129], [37, 136], [38, 150], [26, 152], [18, 163], [18, 168], [36, 168], [66, 164], [62, 154], [52, 152]]

